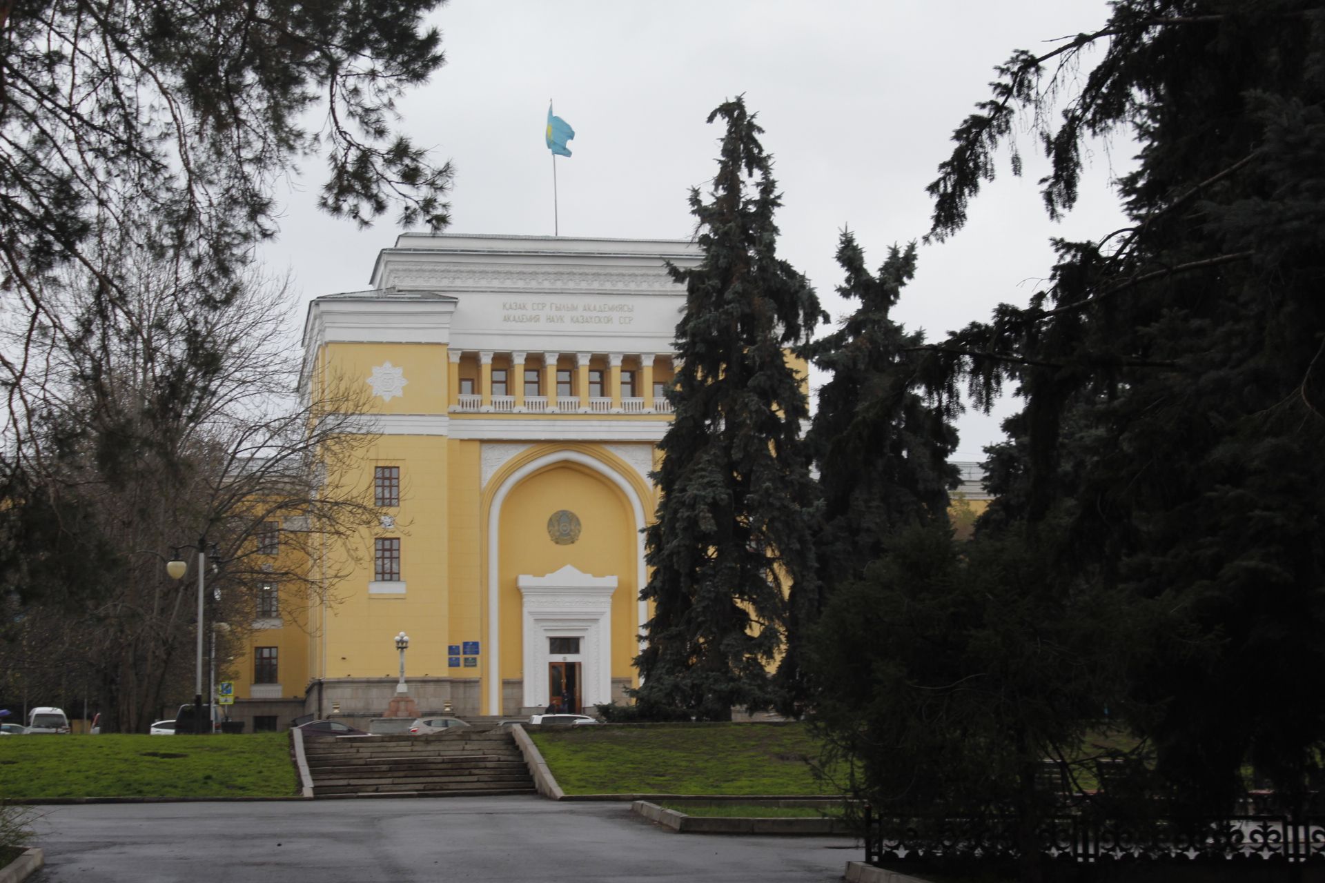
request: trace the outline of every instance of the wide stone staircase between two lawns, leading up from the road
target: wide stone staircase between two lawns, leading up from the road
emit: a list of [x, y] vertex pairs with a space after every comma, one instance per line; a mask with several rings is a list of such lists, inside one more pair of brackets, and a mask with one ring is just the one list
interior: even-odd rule
[[303, 740], [314, 797], [533, 794], [510, 732], [472, 727], [433, 736]]

